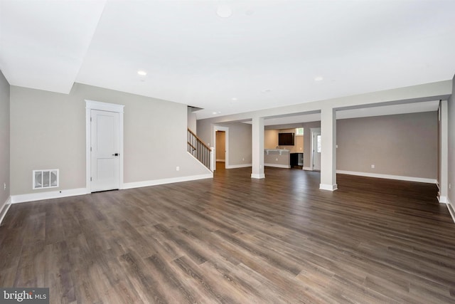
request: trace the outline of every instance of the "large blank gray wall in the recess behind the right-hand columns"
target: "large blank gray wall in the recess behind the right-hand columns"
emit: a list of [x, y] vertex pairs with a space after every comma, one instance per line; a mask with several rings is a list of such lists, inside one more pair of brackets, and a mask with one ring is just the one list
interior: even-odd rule
[[437, 112], [337, 120], [336, 130], [337, 169], [437, 179]]

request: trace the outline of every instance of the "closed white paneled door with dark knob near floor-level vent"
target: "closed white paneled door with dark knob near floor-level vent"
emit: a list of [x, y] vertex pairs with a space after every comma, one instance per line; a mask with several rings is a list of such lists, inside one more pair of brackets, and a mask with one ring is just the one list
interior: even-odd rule
[[91, 110], [90, 114], [90, 189], [119, 189], [119, 113]]

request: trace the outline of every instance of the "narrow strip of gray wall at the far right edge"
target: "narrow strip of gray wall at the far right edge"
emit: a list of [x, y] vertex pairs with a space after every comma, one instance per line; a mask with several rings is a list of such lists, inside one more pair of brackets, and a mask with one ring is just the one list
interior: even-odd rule
[[455, 77], [452, 80], [452, 95], [447, 102], [449, 110], [449, 201], [455, 209]]

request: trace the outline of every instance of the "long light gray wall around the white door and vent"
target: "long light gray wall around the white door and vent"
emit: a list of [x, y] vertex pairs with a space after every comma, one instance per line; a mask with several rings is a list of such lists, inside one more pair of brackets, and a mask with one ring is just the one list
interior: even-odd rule
[[11, 86], [11, 195], [46, 191], [31, 189], [33, 169], [85, 188], [85, 99], [125, 105], [125, 183], [208, 173], [186, 152], [186, 105], [79, 83], [69, 95]]

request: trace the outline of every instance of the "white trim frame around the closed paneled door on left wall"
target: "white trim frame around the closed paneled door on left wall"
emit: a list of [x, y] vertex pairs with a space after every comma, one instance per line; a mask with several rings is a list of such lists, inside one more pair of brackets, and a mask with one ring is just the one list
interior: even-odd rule
[[85, 188], [87, 189], [87, 193], [92, 192], [90, 183], [92, 172], [90, 113], [92, 110], [119, 113], [119, 189], [123, 189], [123, 108], [124, 105], [117, 105], [115, 103], [85, 100]]

